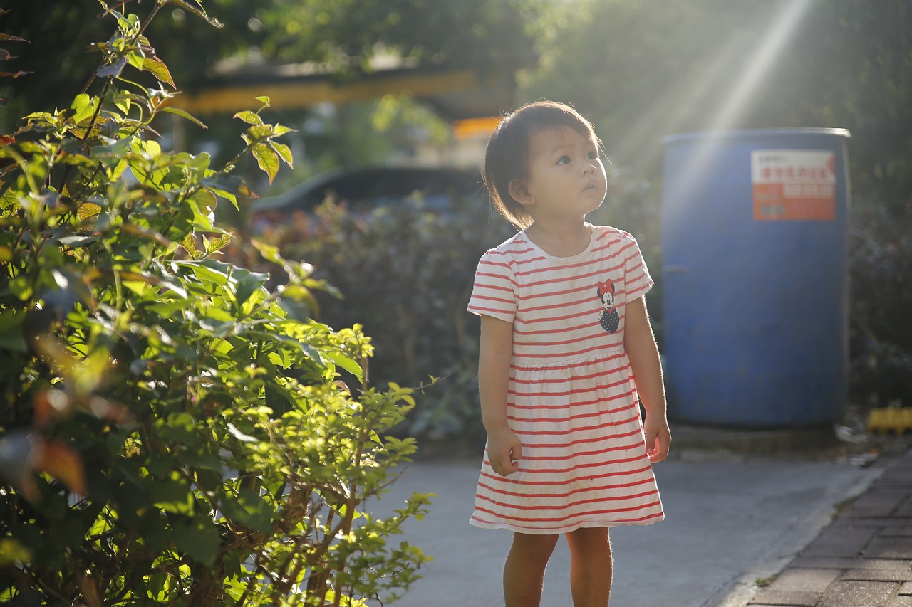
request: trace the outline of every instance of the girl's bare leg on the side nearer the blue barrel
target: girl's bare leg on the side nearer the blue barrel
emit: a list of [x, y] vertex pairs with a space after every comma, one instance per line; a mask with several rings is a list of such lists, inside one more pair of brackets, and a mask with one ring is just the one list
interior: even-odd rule
[[611, 596], [611, 541], [606, 527], [566, 534], [574, 607], [606, 607]]

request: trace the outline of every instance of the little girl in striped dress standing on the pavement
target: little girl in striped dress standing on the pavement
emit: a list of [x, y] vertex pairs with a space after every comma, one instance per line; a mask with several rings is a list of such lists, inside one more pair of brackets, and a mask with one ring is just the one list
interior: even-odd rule
[[607, 189], [600, 145], [573, 108], [541, 101], [503, 118], [485, 151], [485, 187], [522, 230], [482, 256], [469, 302], [488, 434], [471, 522], [513, 531], [507, 607], [539, 604], [561, 534], [575, 607], [605, 607], [607, 528], [664, 518], [651, 463], [671, 433], [643, 301], [653, 283], [630, 234], [586, 222]]

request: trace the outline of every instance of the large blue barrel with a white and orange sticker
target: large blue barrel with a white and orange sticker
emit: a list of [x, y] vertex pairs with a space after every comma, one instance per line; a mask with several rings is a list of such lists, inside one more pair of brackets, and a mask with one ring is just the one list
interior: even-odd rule
[[672, 419], [781, 428], [845, 414], [848, 137], [751, 129], [665, 139]]

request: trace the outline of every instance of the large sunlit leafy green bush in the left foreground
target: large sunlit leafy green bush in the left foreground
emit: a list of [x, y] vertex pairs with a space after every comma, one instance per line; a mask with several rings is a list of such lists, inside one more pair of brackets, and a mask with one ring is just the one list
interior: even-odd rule
[[[309, 265], [254, 242], [285, 276], [272, 288], [220, 259], [232, 237], [212, 211], [247, 193], [234, 162], [166, 153], [151, 127], [190, 118], [142, 34], [168, 4], [145, 21], [106, 6], [98, 93], [0, 148], [0, 602], [395, 598], [426, 557], [387, 542], [428, 497], [386, 520], [365, 500], [415, 449], [385, 436], [410, 390], [368, 386], [358, 325], [313, 320], [326, 285]], [[271, 179], [292, 159], [261, 101], [237, 115], [238, 159]]]

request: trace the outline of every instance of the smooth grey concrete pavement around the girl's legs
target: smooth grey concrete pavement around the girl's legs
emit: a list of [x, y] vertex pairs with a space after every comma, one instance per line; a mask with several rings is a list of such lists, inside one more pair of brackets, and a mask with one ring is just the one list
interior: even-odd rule
[[[611, 531], [612, 607], [746, 605], [758, 592], [757, 581], [774, 578], [833, 520], [837, 505], [861, 494], [883, 472], [878, 462], [865, 467], [857, 461], [862, 460], [678, 449], [656, 466], [667, 520]], [[393, 604], [503, 604], [501, 573], [511, 534], [469, 525], [478, 468], [478, 457], [422, 459], [368, 506], [383, 516], [412, 492], [436, 494], [430, 515], [409, 521], [404, 538], [434, 561]], [[545, 576], [543, 607], [572, 604], [568, 580], [562, 540]]]

